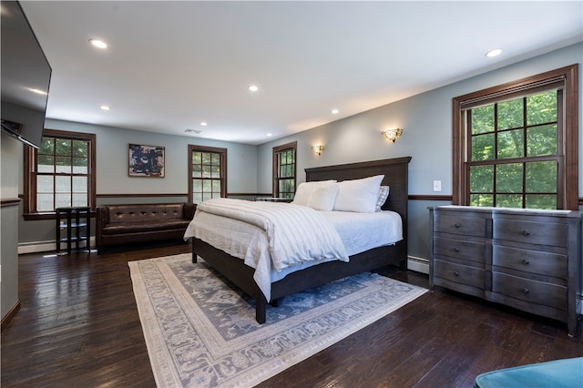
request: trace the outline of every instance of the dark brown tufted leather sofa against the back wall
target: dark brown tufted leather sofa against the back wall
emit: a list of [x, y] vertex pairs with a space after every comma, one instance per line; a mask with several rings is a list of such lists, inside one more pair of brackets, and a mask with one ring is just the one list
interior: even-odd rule
[[115, 245], [182, 239], [195, 209], [191, 203], [98, 206], [97, 254]]

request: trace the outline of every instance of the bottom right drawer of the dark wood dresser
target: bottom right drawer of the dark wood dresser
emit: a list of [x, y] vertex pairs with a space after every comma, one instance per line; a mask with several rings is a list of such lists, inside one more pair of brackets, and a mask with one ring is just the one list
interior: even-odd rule
[[492, 272], [492, 292], [529, 303], [567, 310], [567, 287]]

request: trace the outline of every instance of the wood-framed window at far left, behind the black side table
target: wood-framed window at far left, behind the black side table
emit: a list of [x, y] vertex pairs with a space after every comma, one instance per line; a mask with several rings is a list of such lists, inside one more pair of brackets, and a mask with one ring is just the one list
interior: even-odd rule
[[40, 148], [26, 146], [26, 216], [52, 217], [56, 208], [71, 206], [95, 208], [95, 139], [94, 134], [45, 129]]

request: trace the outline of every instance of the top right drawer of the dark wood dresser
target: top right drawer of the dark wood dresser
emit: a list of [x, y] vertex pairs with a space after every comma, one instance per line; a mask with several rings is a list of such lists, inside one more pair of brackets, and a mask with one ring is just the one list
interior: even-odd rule
[[540, 222], [525, 220], [493, 221], [493, 238], [528, 244], [567, 247], [567, 225], [541, 219]]

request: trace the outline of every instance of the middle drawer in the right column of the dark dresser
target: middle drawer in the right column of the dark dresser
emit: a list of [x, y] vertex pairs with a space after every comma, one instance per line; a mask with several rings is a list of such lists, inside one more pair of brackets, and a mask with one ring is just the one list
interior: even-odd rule
[[501, 245], [494, 245], [492, 253], [492, 265], [494, 266], [565, 280], [568, 278], [568, 257], [565, 255]]

